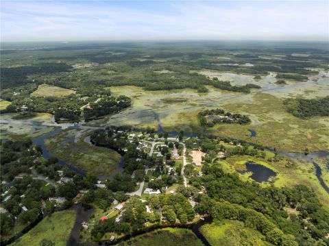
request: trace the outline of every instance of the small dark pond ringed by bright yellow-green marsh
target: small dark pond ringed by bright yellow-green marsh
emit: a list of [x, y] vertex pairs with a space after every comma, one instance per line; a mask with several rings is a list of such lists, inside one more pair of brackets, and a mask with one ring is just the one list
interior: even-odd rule
[[239, 171], [239, 173], [252, 172], [250, 176], [256, 182], [266, 182], [270, 177], [276, 176], [276, 172], [255, 162], [245, 162], [247, 171]]

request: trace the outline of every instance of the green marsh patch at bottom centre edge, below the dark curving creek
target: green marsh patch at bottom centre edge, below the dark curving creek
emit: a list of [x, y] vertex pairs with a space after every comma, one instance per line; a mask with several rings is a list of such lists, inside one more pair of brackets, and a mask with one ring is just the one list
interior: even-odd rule
[[181, 228], [165, 228], [136, 236], [130, 241], [119, 243], [119, 245], [162, 245], [162, 246], [202, 246], [203, 243], [193, 234], [191, 230]]

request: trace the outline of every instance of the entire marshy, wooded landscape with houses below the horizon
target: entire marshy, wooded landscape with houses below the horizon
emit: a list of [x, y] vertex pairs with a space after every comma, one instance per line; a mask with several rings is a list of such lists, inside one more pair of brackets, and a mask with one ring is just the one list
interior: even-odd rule
[[1, 49], [3, 245], [329, 243], [325, 43], [23, 47]]

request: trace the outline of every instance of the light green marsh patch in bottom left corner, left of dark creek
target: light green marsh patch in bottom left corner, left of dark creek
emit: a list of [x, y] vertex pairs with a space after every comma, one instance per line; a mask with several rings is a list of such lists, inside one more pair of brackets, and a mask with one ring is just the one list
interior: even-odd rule
[[39, 246], [43, 238], [55, 243], [56, 246], [65, 246], [75, 222], [74, 211], [54, 212], [51, 217], [43, 219], [27, 234], [12, 243], [12, 246]]

